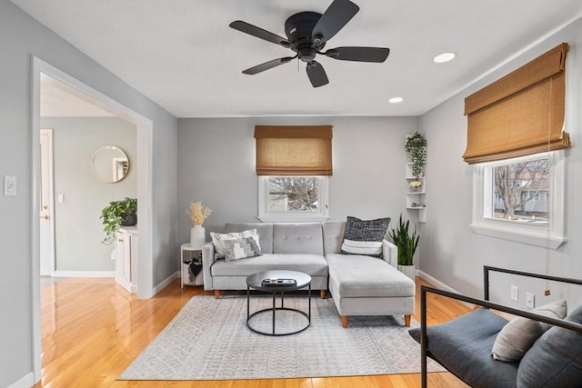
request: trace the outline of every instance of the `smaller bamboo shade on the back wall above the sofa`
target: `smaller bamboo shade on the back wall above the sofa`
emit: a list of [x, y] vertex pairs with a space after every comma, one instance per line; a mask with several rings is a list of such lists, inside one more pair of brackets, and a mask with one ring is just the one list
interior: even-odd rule
[[256, 125], [257, 175], [331, 175], [332, 126]]

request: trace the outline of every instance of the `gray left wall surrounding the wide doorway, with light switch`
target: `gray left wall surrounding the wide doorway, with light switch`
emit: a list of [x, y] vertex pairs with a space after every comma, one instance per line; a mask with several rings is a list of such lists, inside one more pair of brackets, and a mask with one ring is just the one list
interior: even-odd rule
[[[176, 118], [8, 1], [0, 1], [0, 386], [32, 373], [31, 55], [152, 120], [152, 284], [176, 272]], [[9, 312], [9, 313], [7, 313]]]

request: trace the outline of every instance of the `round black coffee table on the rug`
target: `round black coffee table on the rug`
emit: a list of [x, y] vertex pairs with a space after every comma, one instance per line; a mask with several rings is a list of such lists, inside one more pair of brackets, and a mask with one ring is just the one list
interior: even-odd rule
[[[292, 281], [295, 280], [295, 283]], [[266, 281], [266, 282], [265, 282]], [[302, 288], [308, 287], [308, 310], [307, 313], [301, 310], [297, 310], [294, 308], [285, 307], [284, 300], [285, 300], [285, 293], [291, 291], [297, 291]], [[251, 313], [251, 306], [250, 306], [250, 294], [251, 289], [262, 291], [264, 293], [272, 293], [273, 294], [273, 306], [271, 308], [266, 308], [262, 310], [258, 310], [255, 313]], [[276, 306], [276, 293], [281, 294], [281, 306]], [[276, 333], [276, 311], [285, 310], [287, 312], [299, 313], [306, 317], [306, 324], [304, 326], [299, 327], [297, 330], [292, 330], [285, 333]], [[267, 333], [263, 330], [258, 330], [256, 327], [253, 327], [251, 324], [251, 319], [256, 316], [257, 314], [261, 313], [273, 313], [272, 318], [272, 332]], [[255, 333], [265, 334], [265, 335], [289, 335], [300, 333], [306, 330], [307, 327], [311, 324], [311, 276], [308, 274], [304, 274], [298, 271], [283, 271], [283, 270], [275, 270], [275, 271], [264, 271], [256, 274], [252, 274], [246, 278], [246, 325], [250, 330]]]

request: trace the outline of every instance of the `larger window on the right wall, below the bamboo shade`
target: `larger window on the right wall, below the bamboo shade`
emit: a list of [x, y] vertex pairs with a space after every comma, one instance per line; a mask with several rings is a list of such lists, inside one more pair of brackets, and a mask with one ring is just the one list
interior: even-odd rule
[[473, 229], [554, 249], [566, 242], [564, 164], [563, 151], [476, 164]]

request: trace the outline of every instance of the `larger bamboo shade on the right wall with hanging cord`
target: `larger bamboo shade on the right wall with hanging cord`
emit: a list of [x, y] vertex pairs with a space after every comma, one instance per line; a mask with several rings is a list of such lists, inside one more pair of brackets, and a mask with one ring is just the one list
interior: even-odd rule
[[465, 99], [468, 164], [570, 147], [563, 43]]

